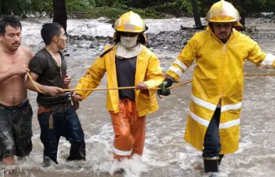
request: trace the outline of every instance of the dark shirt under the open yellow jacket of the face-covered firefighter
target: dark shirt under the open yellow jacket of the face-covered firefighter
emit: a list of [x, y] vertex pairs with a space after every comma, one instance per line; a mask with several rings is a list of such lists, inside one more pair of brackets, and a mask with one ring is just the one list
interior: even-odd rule
[[[136, 57], [119, 59], [116, 57], [117, 84], [119, 87], [135, 86]], [[119, 98], [135, 100], [133, 89], [119, 90]]]

